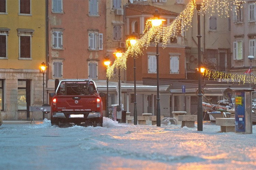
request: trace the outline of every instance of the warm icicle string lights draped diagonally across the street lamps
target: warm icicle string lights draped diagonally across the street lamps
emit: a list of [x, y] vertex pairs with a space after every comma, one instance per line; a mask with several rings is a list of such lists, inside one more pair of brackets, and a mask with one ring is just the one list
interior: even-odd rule
[[[245, 0], [201, 0], [201, 10], [200, 13], [204, 15], [213, 13], [218, 16], [229, 17], [229, 12], [233, 10], [238, 10], [242, 7]], [[192, 27], [191, 22], [195, 11], [195, 0], [190, 0], [186, 5], [185, 9], [170, 23], [167, 25], [161, 25], [159, 27], [151, 27], [150, 18], [146, 21], [145, 29], [143, 31], [143, 36], [137, 39], [137, 43], [133, 46], [128, 46], [129, 39], [126, 40], [126, 51], [123, 53], [122, 57], [116, 58], [114, 63], [107, 68], [106, 76], [110, 79], [113, 77], [114, 68], [126, 69], [126, 62], [128, 56], [138, 57], [144, 49], [147, 49], [150, 45], [159, 43], [161, 40], [162, 48], [165, 48], [171, 37], [176, 37], [184, 31], [185, 28]], [[226, 76], [225, 74], [222, 74]], [[216, 76], [216, 75], [215, 75]], [[219, 76], [219, 75], [218, 75]], [[251, 80], [250, 80], [251, 81]]]

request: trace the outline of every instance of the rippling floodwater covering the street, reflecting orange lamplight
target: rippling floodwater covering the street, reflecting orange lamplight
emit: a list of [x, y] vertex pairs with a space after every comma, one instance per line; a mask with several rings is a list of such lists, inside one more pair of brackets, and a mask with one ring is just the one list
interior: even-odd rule
[[132, 125], [103, 119], [102, 127], [2, 124], [0, 169], [256, 169], [253, 134], [180, 125]]

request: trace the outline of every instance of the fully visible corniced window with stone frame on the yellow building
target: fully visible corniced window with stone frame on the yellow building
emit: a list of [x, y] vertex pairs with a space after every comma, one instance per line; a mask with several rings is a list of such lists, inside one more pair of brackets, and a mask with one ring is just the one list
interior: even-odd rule
[[31, 37], [34, 30], [17, 29], [19, 36], [19, 60], [32, 60], [31, 57]]

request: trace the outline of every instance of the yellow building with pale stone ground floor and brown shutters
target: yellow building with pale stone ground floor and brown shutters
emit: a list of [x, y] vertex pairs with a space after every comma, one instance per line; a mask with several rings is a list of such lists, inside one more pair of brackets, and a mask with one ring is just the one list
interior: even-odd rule
[[[46, 63], [46, 1], [0, 3], [0, 108], [3, 119], [31, 119], [29, 106], [43, 104]], [[37, 112], [34, 116], [42, 118]]]

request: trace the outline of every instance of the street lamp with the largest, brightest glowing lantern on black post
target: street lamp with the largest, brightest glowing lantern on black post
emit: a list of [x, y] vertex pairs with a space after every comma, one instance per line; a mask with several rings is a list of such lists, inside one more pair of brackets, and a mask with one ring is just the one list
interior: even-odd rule
[[[165, 21], [164, 19], [160, 18], [161, 13], [158, 12], [158, 10], [155, 10], [155, 13], [153, 13], [154, 18], [151, 19], [152, 27], [159, 27], [162, 24], [162, 21]], [[158, 42], [156, 42], [156, 79], [157, 79], [157, 104], [156, 104], [156, 126], [161, 126], [161, 116], [160, 116], [160, 98], [159, 98], [159, 68], [158, 68]]]

